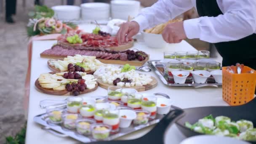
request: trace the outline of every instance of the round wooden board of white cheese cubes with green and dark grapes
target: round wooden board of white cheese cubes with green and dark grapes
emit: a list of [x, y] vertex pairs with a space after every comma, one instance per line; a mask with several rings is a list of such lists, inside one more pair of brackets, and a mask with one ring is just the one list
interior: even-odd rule
[[147, 91], [157, 86], [155, 77], [137, 73], [135, 67], [129, 64], [125, 64], [123, 68], [111, 65], [101, 67], [93, 75], [97, 77], [99, 86], [105, 89], [117, 85], [134, 88], [137, 91]]

